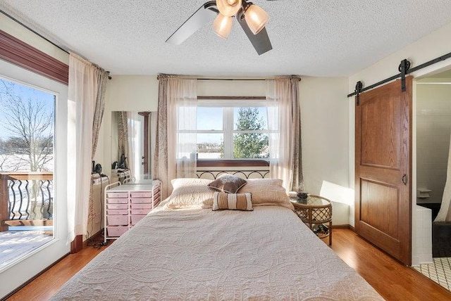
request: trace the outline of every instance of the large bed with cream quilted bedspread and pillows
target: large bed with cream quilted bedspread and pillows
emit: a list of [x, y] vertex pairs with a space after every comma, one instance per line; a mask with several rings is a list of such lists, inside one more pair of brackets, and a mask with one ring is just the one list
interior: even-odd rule
[[175, 179], [52, 300], [383, 300], [292, 212], [280, 180], [210, 183]]

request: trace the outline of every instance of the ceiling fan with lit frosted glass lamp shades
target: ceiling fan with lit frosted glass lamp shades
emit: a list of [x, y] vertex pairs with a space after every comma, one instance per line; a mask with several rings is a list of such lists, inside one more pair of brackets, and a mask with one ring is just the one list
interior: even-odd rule
[[227, 39], [232, 29], [233, 17], [240, 23], [242, 30], [259, 55], [273, 49], [265, 28], [269, 20], [268, 14], [247, 0], [207, 1], [171, 34], [166, 43], [181, 44], [211, 20], [214, 20], [213, 28], [216, 34]]

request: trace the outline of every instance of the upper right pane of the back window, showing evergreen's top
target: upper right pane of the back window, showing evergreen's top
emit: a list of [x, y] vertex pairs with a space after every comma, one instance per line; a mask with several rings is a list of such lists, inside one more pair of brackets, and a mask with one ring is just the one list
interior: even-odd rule
[[268, 114], [266, 108], [233, 108], [233, 129], [235, 131], [267, 130]]

